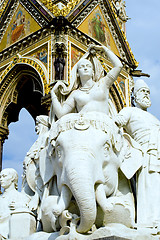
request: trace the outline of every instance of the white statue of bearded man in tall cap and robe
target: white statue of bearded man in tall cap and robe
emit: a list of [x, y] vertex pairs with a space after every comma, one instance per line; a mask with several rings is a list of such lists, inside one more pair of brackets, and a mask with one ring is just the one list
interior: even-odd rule
[[[134, 87], [136, 107], [123, 108], [116, 124], [137, 141], [144, 152], [142, 167], [137, 172], [137, 224], [160, 227], [160, 121], [147, 112], [151, 106], [150, 89], [143, 80]], [[136, 159], [135, 159], [136, 160]]]

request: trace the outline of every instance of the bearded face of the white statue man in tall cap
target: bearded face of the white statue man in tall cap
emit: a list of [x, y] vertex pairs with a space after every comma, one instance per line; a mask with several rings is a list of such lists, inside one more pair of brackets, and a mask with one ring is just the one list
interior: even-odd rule
[[151, 106], [150, 90], [145, 87], [139, 89], [136, 93], [135, 101], [142, 109], [146, 110]]

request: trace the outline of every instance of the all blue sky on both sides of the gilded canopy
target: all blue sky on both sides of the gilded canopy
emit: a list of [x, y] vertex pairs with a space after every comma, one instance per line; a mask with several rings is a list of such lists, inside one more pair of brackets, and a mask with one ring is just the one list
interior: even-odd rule
[[[152, 106], [148, 111], [160, 120], [159, 10], [160, 0], [126, 0], [126, 12], [131, 18], [126, 24], [127, 40], [139, 62], [138, 69], [151, 76], [143, 78], [151, 90]], [[37, 139], [34, 128], [34, 120], [25, 109], [22, 109], [19, 121], [9, 125], [9, 138], [4, 143], [2, 168], [13, 167], [18, 171], [19, 190], [23, 159]]]

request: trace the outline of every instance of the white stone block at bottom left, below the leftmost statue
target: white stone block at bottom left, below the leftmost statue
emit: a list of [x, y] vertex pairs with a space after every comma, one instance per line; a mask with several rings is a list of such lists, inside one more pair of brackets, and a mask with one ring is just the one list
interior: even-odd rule
[[9, 238], [13, 240], [29, 236], [36, 231], [35, 215], [30, 211], [15, 211], [9, 221]]

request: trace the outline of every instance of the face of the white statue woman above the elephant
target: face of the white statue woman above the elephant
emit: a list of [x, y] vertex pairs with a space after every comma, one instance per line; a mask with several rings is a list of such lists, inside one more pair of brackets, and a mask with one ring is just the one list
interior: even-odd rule
[[92, 63], [87, 60], [83, 59], [78, 63], [78, 76], [81, 80], [88, 80], [93, 76], [93, 67]]

